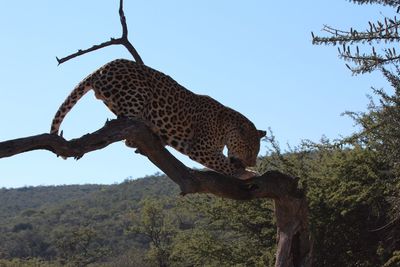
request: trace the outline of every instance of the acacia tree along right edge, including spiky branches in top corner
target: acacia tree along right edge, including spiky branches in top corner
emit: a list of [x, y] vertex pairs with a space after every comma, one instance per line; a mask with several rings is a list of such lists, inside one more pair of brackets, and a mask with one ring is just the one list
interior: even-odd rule
[[[379, 103], [371, 100], [367, 112], [347, 112], [361, 126], [361, 131], [343, 140], [346, 144], [361, 144], [376, 151], [386, 163], [382, 177], [392, 185], [389, 194], [392, 218], [386, 225], [377, 229], [382, 232], [385, 249], [393, 258], [385, 266], [400, 264], [400, 55], [396, 48], [400, 42], [399, 0], [351, 0], [357, 4], [376, 4], [393, 8], [391, 17], [376, 22], [368, 22], [364, 30], [350, 27], [349, 30], [336, 29], [325, 25], [323, 31], [328, 36], [312, 33], [313, 44], [338, 46], [339, 57], [353, 74], [382, 72], [394, 89], [393, 94], [383, 89], [373, 91]], [[364, 51], [364, 52], [362, 52]], [[367, 52], [365, 52], [367, 51]], [[383, 178], [382, 178], [383, 179]]]

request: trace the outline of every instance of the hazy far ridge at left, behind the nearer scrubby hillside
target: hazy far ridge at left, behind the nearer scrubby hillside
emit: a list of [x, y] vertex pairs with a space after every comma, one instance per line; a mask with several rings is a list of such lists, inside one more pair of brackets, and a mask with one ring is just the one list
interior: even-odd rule
[[[21, 215], [28, 210], [51, 208], [73, 200], [90, 201], [93, 197], [115, 195], [140, 200], [144, 195], [159, 196], [177, 193], [177, 186], [164, 175], [125, 180], [114, 185], [29, 186], [15, 189], [0, 188], [0, 222], [5, 217]], [[123, 192], [123, 193], [122, 193]]]

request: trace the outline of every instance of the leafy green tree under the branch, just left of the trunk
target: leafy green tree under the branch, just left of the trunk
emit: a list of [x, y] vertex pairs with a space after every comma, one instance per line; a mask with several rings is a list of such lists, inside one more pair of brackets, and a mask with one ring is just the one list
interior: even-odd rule
[[[176, 266], [271, 266], [275, 226], [270, 201], [233, 201], [188, 196], [178, 205], [197, 217], [185, 221], [174, 239]], [[187, 218], [188, 219], [188, 218]]]

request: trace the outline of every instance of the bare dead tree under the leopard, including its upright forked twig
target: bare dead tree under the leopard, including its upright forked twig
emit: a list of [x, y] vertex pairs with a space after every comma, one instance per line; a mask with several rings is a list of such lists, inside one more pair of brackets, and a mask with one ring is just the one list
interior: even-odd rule
[[[137, 64], [143, 60], [128, 40], [128, 28], [120, 0], [119, 15], [122, 36], [79, 50], [58, 59], [59, 64], [91, 51], [110, 45], [123, 45], [132, 54]], [[102, 149], [120, 140], [135, 140], [136, 152], [141, 153], [157, 165], [181, 189], [181, 194], [212, 193], [236, 200], [271, 198], [275, 201], [278, 229], [278, 249], [275, 266], [311, 266], [312, 242], [308, 230], [308, 209], [304, 192], [297, 187], [297, 178], [277, 171], [266, 172], [248, 180], [239, 180], [213, 171], [198, 171], [187, 168], [162, 145], [160, 138], [140, 119], [118, 118], [106, 123], [98, 131], [70, 141], [62, 136], [40, 134], [0, 142], [0, 158], [19, 153], [45, 149], [59, 156], [81, 158], [85, 153]], [[131, 146], [131, 144], [130, 144]]]

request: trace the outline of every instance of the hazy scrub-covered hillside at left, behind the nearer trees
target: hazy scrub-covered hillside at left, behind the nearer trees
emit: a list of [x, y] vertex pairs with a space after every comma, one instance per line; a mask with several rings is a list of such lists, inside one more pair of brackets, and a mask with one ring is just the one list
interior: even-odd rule
[[145, 198], [178, 193], [178, 187], [162, 175], [115, 185], [0, 189], [0, 259], [70, 258], [73, 255], [60, 255], [65, 250], [62, 246], [73, 245], [74, 235], [85, 235], [85, 231], [92, 231], [89, 238], [97, 246], [92, 251], [103, 258], [146, 247], [148, 240], [143, 236], [127, 234], [132, 225], [129, 216], [138, 212]]

